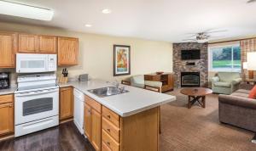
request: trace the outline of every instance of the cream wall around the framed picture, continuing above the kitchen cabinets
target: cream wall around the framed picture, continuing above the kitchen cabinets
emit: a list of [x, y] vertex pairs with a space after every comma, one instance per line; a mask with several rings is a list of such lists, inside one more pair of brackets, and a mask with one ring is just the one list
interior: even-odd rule
[[[125, 76], [113, 77], [113, 44], [131, 46], [131, 75], [147, 74], [155, 71], [172, 72], [171, 42], [104, 36], [3, 22], [0, 22], [0, 31], [79, 37], [79, 65], [67, 68], [71, 77], [88, 73], [90, 77], [108, 81], [114, 78], [118, 80], [125, 78]], [[61, 74], [61, 69], [58, 69], [58, 75]], [[11, 71], [14, 72], [14, 70]], [[14, 74], [12, 79], [15, 80], [15, 78]]]

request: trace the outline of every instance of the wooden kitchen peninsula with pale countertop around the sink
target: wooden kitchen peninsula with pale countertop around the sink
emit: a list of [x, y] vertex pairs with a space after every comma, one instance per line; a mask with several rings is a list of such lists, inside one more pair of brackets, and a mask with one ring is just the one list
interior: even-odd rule
[[96, 150], [159, 150], [160, 105], [176, 97], [125, 86], [129, 92], [101, 98], [90, 89], [111, 87], [106, 81], [72, 81], [84, 93], [84, 134]]

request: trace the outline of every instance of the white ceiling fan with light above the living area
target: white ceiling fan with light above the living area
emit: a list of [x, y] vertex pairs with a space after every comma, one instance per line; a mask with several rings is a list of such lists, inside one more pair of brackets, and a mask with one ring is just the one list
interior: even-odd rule
[[209, 42], [209, 40], [213, 37], [223, 37], [223, 36], [212, 36], [211, 35], [212, 33], [224, 32], [224, 31], [203, 31], [199, 33], [192, 33], [192, 34], [189, 34], [191, 36], [189, 36], [188, 39], [183, 39], [183, 41], [206, 43], [206, 42]]

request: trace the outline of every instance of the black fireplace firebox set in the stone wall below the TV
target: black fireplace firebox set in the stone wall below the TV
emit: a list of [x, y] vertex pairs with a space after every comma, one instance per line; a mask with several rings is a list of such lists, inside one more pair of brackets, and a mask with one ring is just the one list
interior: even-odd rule
[[200, 87], [200, 72], [181, 72], [181, 87]]

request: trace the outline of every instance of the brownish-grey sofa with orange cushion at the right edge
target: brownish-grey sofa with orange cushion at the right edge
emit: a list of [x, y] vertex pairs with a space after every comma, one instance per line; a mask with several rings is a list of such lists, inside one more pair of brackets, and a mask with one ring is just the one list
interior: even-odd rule
[[239, 89], [218, 96], [218, 116], [222, 123], [256, 131], [256, 99], [248, 98], [249, 90]]

